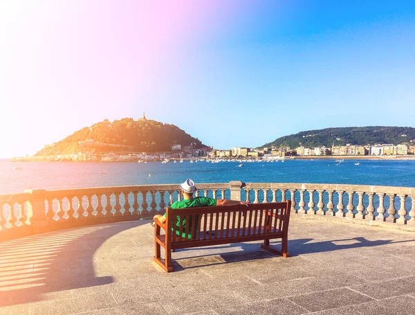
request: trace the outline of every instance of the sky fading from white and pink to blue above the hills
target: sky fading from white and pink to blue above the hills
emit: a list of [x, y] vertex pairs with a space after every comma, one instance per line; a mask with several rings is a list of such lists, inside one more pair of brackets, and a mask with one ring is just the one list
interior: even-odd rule
[[159, 4], [2, 1], [0, 158], [142, 111], [219, 148], [414, 126], [410, 1]]

